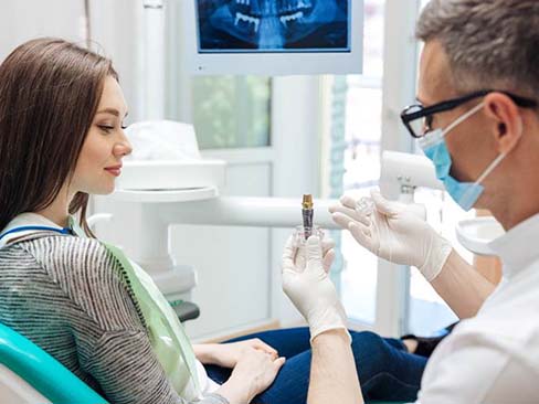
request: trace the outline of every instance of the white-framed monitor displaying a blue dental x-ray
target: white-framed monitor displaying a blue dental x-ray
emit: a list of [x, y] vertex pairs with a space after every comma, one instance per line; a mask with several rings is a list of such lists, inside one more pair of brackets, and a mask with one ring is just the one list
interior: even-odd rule
[[180, 0], [193, 74], [359, 74], [363, 0]]

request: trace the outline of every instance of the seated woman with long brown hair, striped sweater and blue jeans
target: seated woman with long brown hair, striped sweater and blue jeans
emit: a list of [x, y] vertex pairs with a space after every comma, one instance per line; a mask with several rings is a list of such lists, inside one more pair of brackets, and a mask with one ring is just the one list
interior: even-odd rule
[[[305, 403], [308, 329], [225, 344], [187, 341], [168, 358], [154, 345], [155, 329], [125, 264], [85, 220], [88, 194], [113, 192], [131, 151], [126, 115], [110, 61], [70, 42], [30, 41], [0, 65], [0, 321], [110, 403]], [[331, 258], [326, 251], [326, 267]], [[179, 322], [169, 326], [183, 332]], [[351, 336], [363, 389], [380, 393], [390, 380], [387, 398], [412, 400], [425, 360], [406, 364], [399, 384], [394, 352], [403, 345]]]

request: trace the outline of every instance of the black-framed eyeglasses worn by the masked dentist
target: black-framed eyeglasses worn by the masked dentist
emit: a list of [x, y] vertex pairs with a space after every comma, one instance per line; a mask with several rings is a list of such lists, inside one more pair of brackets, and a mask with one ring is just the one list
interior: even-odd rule
[[414, 138], [421, 138], [430, 130], [432, 130], [432, 119], [434, 114], [440, 114], [446, 110], [454, 109], [474, 98], [484, 97], [489, 93], [505, 94], [509, 98], [511, 98], [515, 104], [522, 108], [536, 108], [538, 105], [537, 102], [533, 99], [520, 97], [508, 92], [498, 92], [496, 89], [482, 89], [479, 92], [475, 92], [463, 97], [453, 98], [431, 105], [430, 107], [424, 107], [421, 104], [411, 105], [404, 108], [401, 114], [401, 119], [408, 131], [410, 131], [410, 135], [412, 135]]

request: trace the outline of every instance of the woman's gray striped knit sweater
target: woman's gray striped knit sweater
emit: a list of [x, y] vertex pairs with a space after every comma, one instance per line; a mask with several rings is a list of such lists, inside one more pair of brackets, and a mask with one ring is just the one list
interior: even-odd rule
[[[112, 404], [187, 404], [159, 364], [115, 258], [92, 238], [41, 233], [0, 249], [0, 321]], [[199, 404], [228, 404], [211, 394]]]

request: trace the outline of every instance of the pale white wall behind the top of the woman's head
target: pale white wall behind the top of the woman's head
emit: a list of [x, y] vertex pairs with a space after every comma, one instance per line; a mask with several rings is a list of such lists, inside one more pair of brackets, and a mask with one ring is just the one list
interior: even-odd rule
[[[138, 75], [141, 0], [92, 0], [91, 31], [95, 50], [112, 57], [129, 106], [139, 116]], [[0, 6], [0, 61], [21, 43], [60, 36], [85, 45], [83, 0], [17, 0]]]

